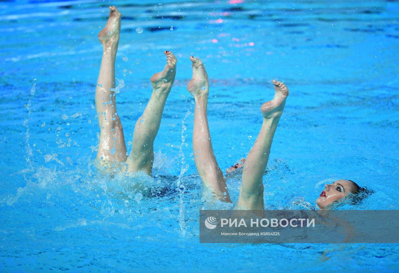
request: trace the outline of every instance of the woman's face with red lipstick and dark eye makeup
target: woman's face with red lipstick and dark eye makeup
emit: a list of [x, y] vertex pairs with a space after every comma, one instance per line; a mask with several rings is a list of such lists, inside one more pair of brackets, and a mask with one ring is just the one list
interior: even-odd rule
[[345, 179], [337, 180], [332, 184], [326, 184], [324, 191], [322, 191], [320, 197], [316, 199], [316, 204], [320, 209], [324, 209], [332, 202], [346, 197], [353, 190], [353, 183]]

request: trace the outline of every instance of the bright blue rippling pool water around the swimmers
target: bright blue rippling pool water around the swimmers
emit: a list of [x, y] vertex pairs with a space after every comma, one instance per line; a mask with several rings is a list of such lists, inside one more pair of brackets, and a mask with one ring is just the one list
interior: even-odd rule
[[[149, 78], [164, 67], [162, 51], [178, 57], [153, 178], [108, 177], [94, 167], [97, 33], [109, 5], [122, 13], [116, 78], [125, 83], [117, 105], [126, 146]], [[209, 75], [209, 127], [224, 170], [255, 141], [271, 80], [286, 83], [264, 177], [267, 208], [316, 207], [325, 183], [346, 178], [374, 193], [340, 209], [398, 209], [397, 1], [0, 6], [2, 272], [398, 270], [397, 244], [199, 244], [199, 210], [231, 205], [201, 200], [186, 90], [194, 55]], [[227, 180], [233, 203], [239, 177]]]

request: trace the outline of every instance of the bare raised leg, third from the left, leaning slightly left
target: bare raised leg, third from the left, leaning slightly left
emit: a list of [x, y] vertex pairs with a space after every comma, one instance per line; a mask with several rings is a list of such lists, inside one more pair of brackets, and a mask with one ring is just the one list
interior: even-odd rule
[[207, 119], [209, 94], [208, 74], [202, 61], [190, 57], [193, 66], [193, 77], [188, 82], [187, 90], [196, 101], [194, 110], [193, 155], [197, 171], [203, 185], [210, 187], [221, 201], [231, 202], [223, 173], [217, 165], [213, 154], [211, 134]]

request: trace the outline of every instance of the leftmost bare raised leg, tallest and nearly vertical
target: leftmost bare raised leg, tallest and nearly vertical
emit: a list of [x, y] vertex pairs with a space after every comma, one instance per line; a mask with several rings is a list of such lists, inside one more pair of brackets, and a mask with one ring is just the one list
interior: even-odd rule
[[97, 80], [95, 102], [99, 115], [100, 143], [97, 158], [112, 162], [126, 160], [122, 124], [115, 103], [115, 56], [117, 54], [121, 14], [115, 6], [109, 7], [109, 19], [98, 37], [103, 45], [103, 58]]

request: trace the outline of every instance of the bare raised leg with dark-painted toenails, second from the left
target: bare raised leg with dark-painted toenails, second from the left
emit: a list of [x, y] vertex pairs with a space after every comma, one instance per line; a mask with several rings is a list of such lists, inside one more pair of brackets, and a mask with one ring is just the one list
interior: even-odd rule
[[151, 77], [153, 90], [150, 101], [134, 127], [132, 151], [126, 160], [127, 172], [143, 170], [149, 175], [152, 174], [154, 140], [161, 124], [166, 99], [176, 76], [176, 57], [170, 51], [164, 51], [164, 54], [166, 66], [162, 72]]

